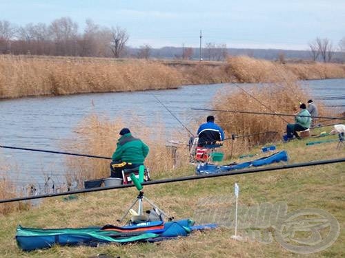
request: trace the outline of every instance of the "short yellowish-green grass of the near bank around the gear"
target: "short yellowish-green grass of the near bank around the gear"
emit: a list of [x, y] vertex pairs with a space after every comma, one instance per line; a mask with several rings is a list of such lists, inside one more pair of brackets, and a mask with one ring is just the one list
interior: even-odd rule
[[[329, 129], [327, 129], [329, 131]], [[328, 136], [325, 139], [335, 139]], [[337, 142], [306, 146], [313, 140], [295, 140], [277, 144], [286, 149], [289, 163], [343, 158], [342, 151], [335, 150]], [[253, 149], [253, 153], [259, 153]], [[241, 159], [235, 159], [243, 161]], [[186, 168], [177, 175], [193, 175], [193, 168]], [[146, 197], [175, 218], [193, 217], [200, 197], [228, 196], [233, 200], [233, 184], [241, 187], [239, 203], [251, 206], [262, 202], [284, 201], [288, 212], [298, 208], [322, 208], [333, 214], [340, 224], [340, 235], [335, 243], [310, 257], [342, 257], [344, 255], [345, 199], [344, 164], [329, 164], [304, 169], [270, 171], [250, 175], [197, 180], [166, 185], [146, 186]], [[162, 174], [164, 178], [170, 173]], [[176, 176], [176, 175], [175, 175]], [[53, 197], [41, 206], [21, 213], [13, 212], [0, 217], [2, 257], [94, 257], [102, 253], [111, 257], [302, 257], [282, 248], [273, 239], [271, 244], [258, 241], [233, 241], [233, 228], [206, 230], [159, 244], [106, 245], [91, 247], [59, 247], [34, 252], [21, 252], [13, 236], [18, 224], [29, 227], [66, 228], [116, 224], [116, 219], [126, 211], [136, 197], [135, 189], [121, 189], [77, 195], [77, 199], [63, 200]], [[233, 202], [230, 202], [233, 205]], [[197, 217], [193, 217], [197, 220]], [[274, 229], [270, 229], [273, 230]], [[242, 231], [240, 231], [241, 234]]]

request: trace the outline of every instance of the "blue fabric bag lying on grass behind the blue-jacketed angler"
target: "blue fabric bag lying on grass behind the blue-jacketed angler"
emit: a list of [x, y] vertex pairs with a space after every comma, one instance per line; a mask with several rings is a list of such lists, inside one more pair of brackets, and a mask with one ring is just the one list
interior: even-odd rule
[[286, 151], [279, 151], [268, 157], [259, 158], [257, 160], [243, 162], [235, 165], [217, 166], [215, 164], [201, 163], [197, 165], [196, 173], [197, 175], [222, 173], [235, 169], [246, 169], [250, 166], [264, 166], [281, 161], [288, 161], [288, 153], [286, 153]]

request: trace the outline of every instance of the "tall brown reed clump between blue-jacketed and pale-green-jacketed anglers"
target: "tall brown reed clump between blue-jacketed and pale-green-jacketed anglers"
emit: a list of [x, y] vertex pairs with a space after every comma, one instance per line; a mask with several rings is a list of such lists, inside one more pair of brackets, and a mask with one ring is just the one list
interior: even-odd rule
[[[247, 94], [248, 92], [249, 94]], [[255, 111], [277, 114], [297, 114], [299, 101], [306, 103], [308, 92], [293, 80], [286, 80], [284, 83], [257, 85], [250, 90], [243, 92], [241, 89], [228, 95], [219, 94], [215, 99], [215, 109]], [[319, 116], [334, 115], [322, 103], [317, 103]], [[224, 128], [226, 136], [232, 134], [237, 136], [248, 136], [253, 133], [275, 131], [277, 133], [264, 133], [255, 136], [237, 138], [235, 142], [228, 140], [224, 142], [226, 155], [239, 155], [250, 151], [257, 144], [275, 142], [282, 138], [286, 131], [286, 124], [293, 123], [294, 118], [290, 116], [267, 116], [258, 114], [239, 114], [230, 112], [216, 112], [219, 125]]]

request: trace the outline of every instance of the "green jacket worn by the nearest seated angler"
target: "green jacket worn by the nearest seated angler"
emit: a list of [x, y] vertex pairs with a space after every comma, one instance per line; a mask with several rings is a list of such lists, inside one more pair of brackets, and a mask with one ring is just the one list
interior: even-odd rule
[[112, 154], [112, 161], [122, 160], [132, 164], [143, 164], [148, 155], [148, 146], [140, 139], [126, 133], [119, 138], [117, 148]]

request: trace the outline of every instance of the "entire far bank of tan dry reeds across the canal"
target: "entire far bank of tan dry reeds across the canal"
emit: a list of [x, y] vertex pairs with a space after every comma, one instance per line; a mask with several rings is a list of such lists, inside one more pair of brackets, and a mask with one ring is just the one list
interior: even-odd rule
[[0, 56], [0, 98], [87, 92], [130, 92], [180, 85], [345, 78], [345, 65], [281, 64], [246, 56], [226, 63]]

